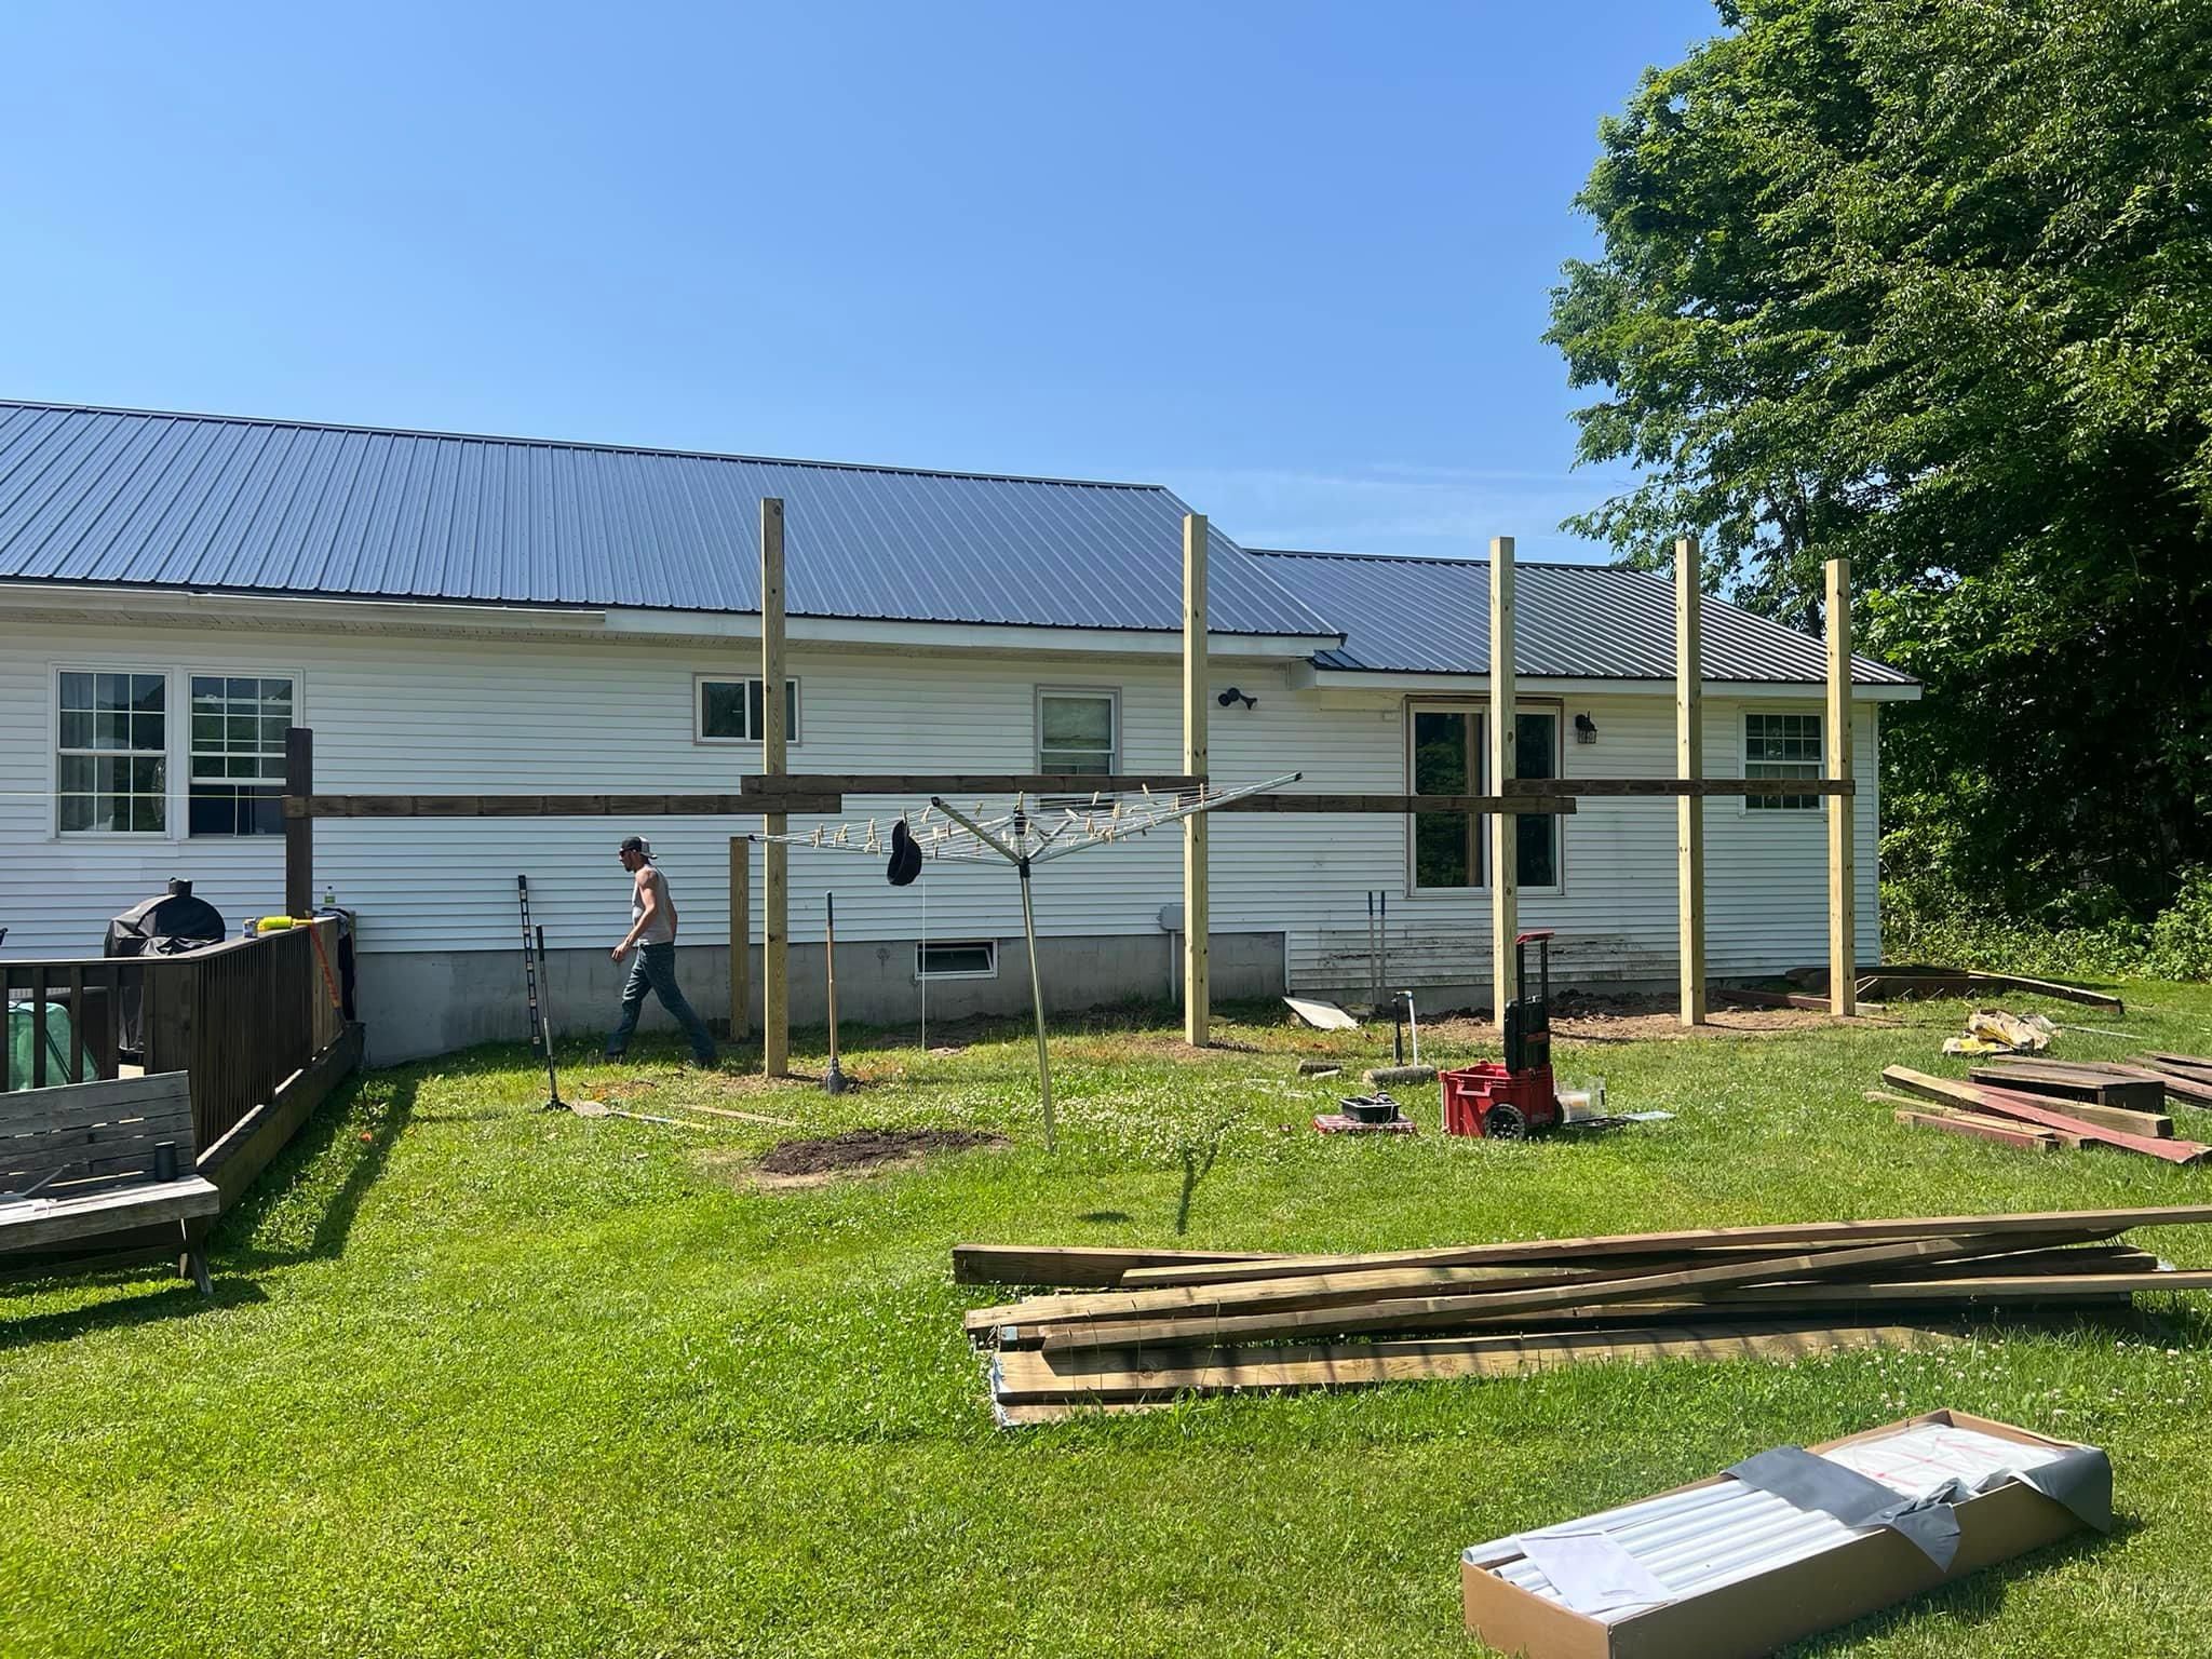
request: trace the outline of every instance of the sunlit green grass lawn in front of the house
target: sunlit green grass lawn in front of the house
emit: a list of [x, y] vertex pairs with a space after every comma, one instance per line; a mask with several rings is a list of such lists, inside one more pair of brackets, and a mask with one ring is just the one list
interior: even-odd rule
[[[2141, 1037], [2055, 1053], [2212, 1048], [2212, 987], [2126, 993]], [[144, 1274], [0, 1292], [0, 1652], [1469, 1655], [1464, 1544], [1933, 1407], [2106, 1447], [2117, 1533], [1798, 1652], [2203, 1652], [2212, 1321], [2183, 1298], [1942, 1354], [991, 1425], [960, 1314], [1002, 1294], [951, 1283], [956, 1239], [1371, 1250], [2212, 1199], [2208, 1170], [1907, 1130], [1860, 1097], [1889, 1062], [1958, 1073], [1936, 1048], [1960, 1018], [1562, 1044], [1562, 1073], [1674, 1121], [1524, 1146], [1433, 1133], [1433, 1086], [1405, 1091], [1420, 1137], [1305, 1130], [1349, 1075], [1292, 1060], [1369, 1064], [1374, 1035], [1252, 1009], [1192, 1060], [1159, 1013], [1071, 1020], [1055, 1157], [1020, 1026], [951, 1055], [887, 1037], [841, 1099], [577, 1046], [571, 1093], [637, 1110], [1011, 1137], [785, 1192], [745, 1164], [794, 1130], [549, 1115], [520, 1048], [369, 1073], [223, 1223], [212, 1303]], [[1183, 1152], [1217, 1141], [1179, 1230]], [[2141, 1237], [2212, 1265], [2212, 1232]]]

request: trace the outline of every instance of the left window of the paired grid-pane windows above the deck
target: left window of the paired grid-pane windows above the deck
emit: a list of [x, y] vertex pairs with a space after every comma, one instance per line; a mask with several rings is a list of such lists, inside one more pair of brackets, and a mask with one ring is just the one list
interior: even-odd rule
[[64, 668], [55, 686], [55, 830], [168, 830], [168, 675]]

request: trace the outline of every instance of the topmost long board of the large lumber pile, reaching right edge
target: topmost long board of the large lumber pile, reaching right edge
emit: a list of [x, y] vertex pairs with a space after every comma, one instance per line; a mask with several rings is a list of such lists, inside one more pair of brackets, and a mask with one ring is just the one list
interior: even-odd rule
[[[2135, 1210], [2028, 1210], [2013, 1214], [1893, 1217], [1882, 1221], [1785, 1221], [1750, 1228], [1692, 1228], [1686, 1232], [1626, 1232], [1595, 1239], [1520, 1239], [1480, 1245], [1433, 1245], [1425, 1250], [1374, 1250], [1343, 1256], [1217, 1256], [1130, 1265], [1119, 1283], [1199, 1285], [1237, 1279], [1358, 1272], [1363, 1267], [1475, 1267], [1511, 1261], [1582, 1261], [1606, 1256], [1666, 1256], [1723, 1245], [1849, 1248], [1891, 1239], [2004, 1237], [2035, 1232], [2081, 1232], [2110, 1237], [2128, 1228], [2190, 1228], [2212, 1223], [2212, 1203], [2181, 1203]], [[978, 1245], [964, 1245], [978, 1248]], [[1011, 1245], [1000, 1245], [1011, 1248]], [[1172, 1256], [1177, 1252], [1159, 1252]], [[956, 1263], [958, 1272], [958, 1263]], [[1046, 1279], [991, 1279], [980, 1283], [1055, 1283]], [[1093, 1281], [1097, 1283], [1097, 1281]], [[1113, 1283], [1113, 1281], [1106, 1281]]]

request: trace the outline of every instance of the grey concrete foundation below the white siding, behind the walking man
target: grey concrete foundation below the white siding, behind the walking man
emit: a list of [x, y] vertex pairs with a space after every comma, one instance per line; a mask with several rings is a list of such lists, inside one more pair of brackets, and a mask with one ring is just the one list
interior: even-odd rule
[[[1079, 1013], [1130, 998], [1168, 998], [1168, 933], [1040, 938], [1037, 973], [1046, 1013]], [[1281, 933], [1214, 933], [1210, 940], [1217, 1002], [1283, 993]], [[823, 947], [792, 945], [792, 1024], [827, 1020]], [[628, 964], [606, 951], [549, 951], [540, 995], [551, 998], [562, 1037], [604, 1033], [615, 1024]], [[723, 945], [677, 947], [677, 980], [699, 1015], [719, 1033], [730, 1018], [730, 951]], [[1179, 991], [1179, 987], [1177, 987]], [[358, 1006], [367, 1026], [367, 1064], [442, 1055], [476, 1042], [522, 1042], [529, 1002], [520, 951], [365, 953]], [[922, 987], [914, 978], [914, 940], [854, 940], [836, 953], [838, 1020], [869, 1026], [916, 1026]], [[973, 1013], [1029, 1013], [1029, 951], [1020, 936], [998, 942], [993, 978], [931, 978], [929, 1022]], [[639, 1031], [675, 1031], [659, 1000], [646, 998]], [[761, 1029], [761, 947], [752, 947], [752, 1029]]]

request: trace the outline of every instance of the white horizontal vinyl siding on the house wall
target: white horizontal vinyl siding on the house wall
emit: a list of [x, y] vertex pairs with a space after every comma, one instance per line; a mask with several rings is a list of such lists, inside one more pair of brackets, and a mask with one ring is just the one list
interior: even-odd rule
[[[325, 794], [568, 794], [726, 792], [759, 754], [692, 741], [695, 679], [728, 677], [728, 648], [615, 641], [522, 641], [270, 633], [276, 661], [312, 672], [305, 706]], [[97, 951], [106, 918], [186, 876], [228, 920], [263, 914], [283, 891], [281, 836], [55, 838], [46, 732], [55, 666], [124, 672], [232, 672], [241, 635], [95, 624], [0, 624], [0, 706], [27, 717], [0, 726], [0, 925], [11, 956]], [[805, 679], [816, 772], [1029, 772], [1037, 765], [1037, 688], [1060, 690], [1037, 657], [794, 648]], [[721, 670], [721, 672], [717, 672]], [[1040, 672], [1046, 670], [1046, 672]], [[1181, 770], [1181, 672], [1170, 659], [1117, 668], [1115, 768]], [[1294, 690], [1281, 668], [1241, 661], [1223, 672], [1259, 708], [1208, 706], [1212, 776], [1256, 781], [1303, 772], [1318, 794], [1398, 794], [1407, 776], [1405, 697]], [[1068, 690], [1082, 690], [1068, 686]], [[1091, 695], [1102, 695], [1093, 690]], [[1705, 754], [1714, 772], [1741, 757], [1745, 708], [1708, 690]], [[1597, 743], [1566, 748], [1584, 776], [1672, 776], [1672, 699], [1659, 692], [1571, 695]], [[1860, 706], [1858, 918], [1874, 960], [1876, 752], [1874, 708]], [[173, 719], [175, 728], [177, 721]], [[170, 732], [175, 765], [181, 734]], [[175, 770], [175, 768], [173, 768]], [[794, 816], [792, 830], [869, 818], [880, 830], [922, 803], [847, 796], [841, 818]], [[960, 803], [962, 807], [971, 803]], [[181, 810], [177, 801], [173, 812]], [[757, 818], [330, 818], [314, 827], [316, 894], [361, 911], [361, 951], [511, 951], [515, 874], [531, 878], [533, 916], [551, 949], [606, 951], [628, 927], [628, 878], [613, 860], [624, 834], [648, 834], [684, 909], [684, 947], [721, 945], [730, 836]], [[1674, 812], [1663, 799], [1590, 799], [1559, 823], [1562, 885], [1522, 896], [1528, 927], [1555, 927], [1562, 973], [1668, 982], [1674, 973]], [[1398, 816], [1223, 814], [1212, 823], [1212, 925], [1223, 933], [1283, 933], [1292, 984], [1367, 982], [1345, 967], [1365, 951], [1365, 894], [1391, 894], [1391, 978], [1400, 984], [1480, 984], [1489, 973], [1489, 896], [1407, 894], [1407, 827]], [[1827, 874], [1820, 814], [1708, 812], [1710, 958], [1717, 975], [1772, 973], [1825, 956]], [[1051, 938], [1148, 936], [1181, 900], [1181, 834], [1152, 834], [1037, 872], [1037, 927]], [[929, 865], [927, 936], [1020, 938], [1013, 872]], [[761, 867], [754, 854], [752, 938]], [[925, 936], [916, 887], [889, 887], [883, 860], [792, 849], [799, 894], [836, 894], [838, 945]], [[613, 929], [613, 931], [608, 931]], [[796, 938], [796, 920], [794, 920]], [[905, 967], [907, 956], [900, 956]], [[1338, 978], [1329, 978], [1338, 975]], [[1161, 989], [1166, 973], [1161, 969]], [[1148, 989], [1148, 987], [1139, 987]]]

